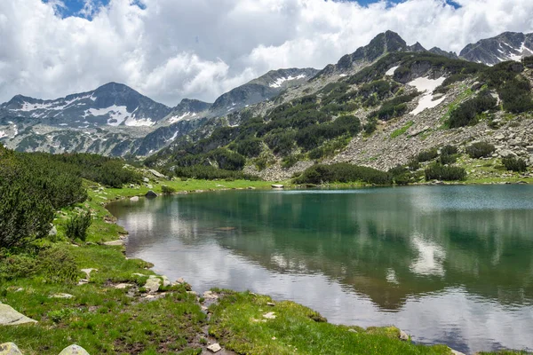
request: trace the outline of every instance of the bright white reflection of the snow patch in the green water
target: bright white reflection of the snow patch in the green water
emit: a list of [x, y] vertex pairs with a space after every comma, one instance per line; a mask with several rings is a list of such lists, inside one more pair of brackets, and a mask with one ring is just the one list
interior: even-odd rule
[[410, 271], [418, 275], [444, 276], [446, 251], [431, 241], [425, 241], [421, 235], [414, 235], [411, 243], [418, 250], [418, 258], [410, 264]]

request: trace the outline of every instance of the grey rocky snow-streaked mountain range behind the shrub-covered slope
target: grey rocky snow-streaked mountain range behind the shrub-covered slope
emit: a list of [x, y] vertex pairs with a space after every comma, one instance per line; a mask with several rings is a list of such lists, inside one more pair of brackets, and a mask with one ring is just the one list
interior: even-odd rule
[[[94, 91], [52, 100], [17, 95], [0, 105], [0, 143], [20, 151], [147, 156], [165, 147], [172, 149], [184, 140], [205, 138], [219, 126], [240, 124], [243, 112], [267, 114], [290, 99], [362, 73], [391, 53], [425, 54], [493, 66], [533, 55], [533, 34], [505, 32], [468, 44], [457, 56], [436, 47], [426, 50], [420, 43], [408, 45], [398, 34], [386, 31], [322, 70], [272, 70], [222, 94], [214, 103], [182, 99], [177, 106], [169, 107], [121, 83], [107, 83]], [[401, 74], [392, 72], [400, 83]], [[405, 76], [403, 83], [415, 76], [419, 74]]]

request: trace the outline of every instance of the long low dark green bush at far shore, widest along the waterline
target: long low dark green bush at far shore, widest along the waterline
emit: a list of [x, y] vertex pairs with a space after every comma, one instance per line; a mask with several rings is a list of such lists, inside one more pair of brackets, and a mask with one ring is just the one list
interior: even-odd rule
[[375, 185], [391, 185], [390, 174], [372, 168], [340, 162], [332, 165], [316, 164], [296, 178], [296, 184], [348, 183], [361, 181]]

